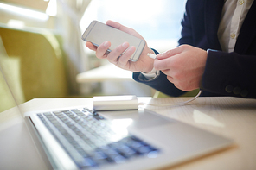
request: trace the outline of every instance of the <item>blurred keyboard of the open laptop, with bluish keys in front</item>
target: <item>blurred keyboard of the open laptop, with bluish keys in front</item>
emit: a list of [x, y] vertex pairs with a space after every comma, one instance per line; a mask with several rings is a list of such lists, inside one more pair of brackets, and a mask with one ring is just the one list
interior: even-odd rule
[[86, 108], [37, 116], [81, 169], [123, 163], [139, 156], [157, 157], [159, 153], [135, 135], [118, 134], [111, 121]]

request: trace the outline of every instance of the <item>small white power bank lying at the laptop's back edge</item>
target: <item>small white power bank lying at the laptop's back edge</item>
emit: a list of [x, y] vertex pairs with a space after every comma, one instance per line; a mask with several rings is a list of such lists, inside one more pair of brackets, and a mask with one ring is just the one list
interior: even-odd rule
[[93, 97], [93, 110], [138, 110], [138, 99], [134, 95]]

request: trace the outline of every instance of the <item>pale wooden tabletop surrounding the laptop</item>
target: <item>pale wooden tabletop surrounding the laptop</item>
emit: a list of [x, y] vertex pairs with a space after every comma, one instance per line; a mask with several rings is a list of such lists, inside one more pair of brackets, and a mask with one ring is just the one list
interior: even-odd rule
[[[151, 104], [175, 103], [189, 98], [138, 98]], [[24, 111], [92, 105], [92, 98], [36, 98], [22, 104]], [[201, 129], [232, 138], [235, 145], [220, 152], [165, 169], [256, 169], [256, 100], [242, 98], [197, 98], [189, 105], [152, 107]], [[36, 152], [22, 118], [15, 109], [0, 113], [0, 169], [46, 169]]]

